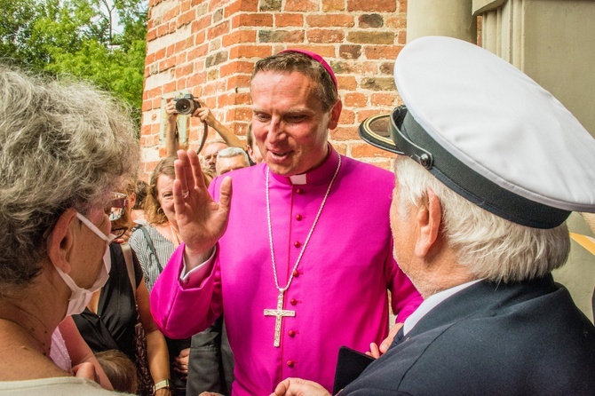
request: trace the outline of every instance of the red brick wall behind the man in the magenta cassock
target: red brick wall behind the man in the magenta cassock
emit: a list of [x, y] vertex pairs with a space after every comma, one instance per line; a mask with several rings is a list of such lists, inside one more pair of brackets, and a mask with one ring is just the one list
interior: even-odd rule
[[[407, 0], [150, 0], [141, 178], [165, 154], [159, 135], [164, 94], [191, 91], [243, 138], [254, 62], [286, 48], [321, 54], [337, 75], [344, 107], [330, 131], [332, 145], [389, 169], [391, 155], [363, 143], [357, 126], [399, 104], [393, 64], [405, 44], [406, 14]], [[190, 123], [195, 148], [200, 123]]]

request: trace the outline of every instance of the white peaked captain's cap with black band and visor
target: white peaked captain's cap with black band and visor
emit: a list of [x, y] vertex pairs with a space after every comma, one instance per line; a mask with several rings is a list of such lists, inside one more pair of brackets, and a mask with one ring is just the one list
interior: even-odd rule
[[421, 37], [394, 65], [405, 103], [360, 125], [481, 208], [551, 228], [595, 212], [595, 139], [550, 92], [475, 44]]

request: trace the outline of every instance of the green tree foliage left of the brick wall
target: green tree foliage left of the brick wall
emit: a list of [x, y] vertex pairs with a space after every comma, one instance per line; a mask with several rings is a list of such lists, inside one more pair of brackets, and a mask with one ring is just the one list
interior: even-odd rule
[[146, 0], [0, 0], [2, 61], [112, 91], [140, 122]]

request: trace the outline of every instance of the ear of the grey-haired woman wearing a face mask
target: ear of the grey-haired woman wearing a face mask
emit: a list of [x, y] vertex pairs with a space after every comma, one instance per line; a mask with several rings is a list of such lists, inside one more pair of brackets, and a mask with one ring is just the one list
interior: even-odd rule
[[69, 257], [75, 242], [75, 233], [73, 230], [75, 219], [76, 210], [65, 210], [58, 218], [46, 242], [48, 257], [50, 257], [53, 265], [59, 267], [64, 273], [70, 272]]

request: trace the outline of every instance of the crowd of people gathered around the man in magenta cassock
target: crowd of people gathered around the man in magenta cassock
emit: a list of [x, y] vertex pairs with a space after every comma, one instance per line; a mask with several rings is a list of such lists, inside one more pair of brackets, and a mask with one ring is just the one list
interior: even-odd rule
[[246, 142], [199, 102], [217, 138], [180, 146], [169, 100], [144, 182], [115, 99], [0, 66], [0, 394], [595, 394], [595, 327], [551, 276], [595, 140], [461, 40], [407, 44], [394, 80], [359, 128], [394, 173], [329, 143], [337, 78], [286, 50]]

